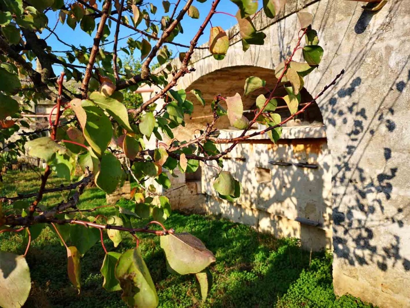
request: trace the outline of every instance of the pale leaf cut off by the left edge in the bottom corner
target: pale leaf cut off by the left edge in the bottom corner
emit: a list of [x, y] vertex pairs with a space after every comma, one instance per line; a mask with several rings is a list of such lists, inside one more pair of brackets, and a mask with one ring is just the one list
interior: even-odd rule
[[26, 258], [0, 251], [0, 306], [21, 307], [31, 289], [30, 269]]

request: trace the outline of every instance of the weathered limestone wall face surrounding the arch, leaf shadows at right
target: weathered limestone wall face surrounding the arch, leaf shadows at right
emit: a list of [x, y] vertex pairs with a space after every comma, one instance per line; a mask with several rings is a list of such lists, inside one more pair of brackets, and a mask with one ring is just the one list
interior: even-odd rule
[[[325, 53], [319, 68], [305, 78], [305, 88], [315, 95], [342, 69], [346, 71], [318, 102], [332, 158], [335, 292], [380, 307], [404, 308], [410, 307], [410, 5], [389, 0], [377, 13], [363, 11], [362, 5], [289, 0], [278, 22], [272, 24], [263, 14], [255, 18], [256, 27], [267, 34], [265, 45], [243, 53], [241, 44], [234, 44], [222, 61], [213, 60], [207, 50], [196, 51], [196, 71], [178, 87], [201, 89], [207, 74], [231, 72], [232, 80], [214, 78], [222, 90], [214, 87], [217, 93], [205, 95], [232, 95], [229, 91], [244, 83], [243, 75], [236, 74], [238, 66], [255, 67], [255, 73], [248, 69], [248, 76], [264, 74], [291, 52], [299, 30], [294, 12], [306, 6], [315, 16], [313, 28]], [[230, 33], [237, 30], [233, 27]], [[209, 107], [195, 108], [206, 114]], [[215, 210], [224, 207], [219, 203]], [[231, 217], [253, 219], [254, 207], [232, 212]], [[273, 220], [260, 218], [259, 224]], [[283, 219], [277, 220], [278, 226], [287, 228]]]

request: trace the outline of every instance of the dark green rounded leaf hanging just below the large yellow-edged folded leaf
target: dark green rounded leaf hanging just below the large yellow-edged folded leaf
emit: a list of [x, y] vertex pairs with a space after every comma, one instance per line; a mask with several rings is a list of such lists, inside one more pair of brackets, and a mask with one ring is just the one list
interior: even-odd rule
[[113, 153], [106, 151], [101, 157], [100, 171], [96, 175], [95, 184], [107, 194], [111, 194], [117, 188], [121, 178], [121, 163]]

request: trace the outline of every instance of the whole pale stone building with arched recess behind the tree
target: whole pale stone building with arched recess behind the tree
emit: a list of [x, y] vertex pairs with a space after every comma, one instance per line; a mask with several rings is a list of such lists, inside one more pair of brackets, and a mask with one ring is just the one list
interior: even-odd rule
[[[318, 100], [320, 114], [284, 128], [276, 145], [261, 136], [229, 154], [226, 165], [242, 184], [238, 202], [216, 198], [215, 171], [207, 166], [178, 178], [181, 188], [169, 195], [174, 207], [202, 208], [261, 231], [297, 236], [308, 249], [332, 248], [337, 295], [404, 308], [410, 307], [410, 5], [390, 0], [375, 13], [364, 4], [288, 0], [274, 20], [255, 17], [256, 28], [267, 34], [263, 46], [243, 53], [234, 37], [222, 61], [208, 50], [195, 51], [196, 70], [178, 82], [179, 89], [200, 89], [209, 102], [219, 93], [241, 93], [250, 75], [272, 88], [273, 69], [296, 44], [296, 12], [303, 9], [314, 14], [325, 50], [319, 68], [305, 78], [305, 99], [346, 72]], [[228, 36], [237, 31], [234, 26]], [[245, 101], [245, 109], [254, 102]], [[210, 106], [196, 104], [177, 138], [191, 139], [209, 114]], [[221, 137], [238, 134], [227, 122], [219, 128]]]

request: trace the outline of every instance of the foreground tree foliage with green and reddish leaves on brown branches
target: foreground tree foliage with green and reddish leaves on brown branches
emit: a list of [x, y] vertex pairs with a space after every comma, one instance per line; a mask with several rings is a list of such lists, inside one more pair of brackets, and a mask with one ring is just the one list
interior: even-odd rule
[[[238, 6], [236, 18], [243, 50], [248, 50], [251, 45], [263, 45], [265, 34], [255, 28], [251, 17], [256, 13], [257, 1], [232, 1]], [[323, 55], [316, 32], [310, 25], [313, 16], [300, 12], [301, 29], [297, 45], [288, 59], [275, 69], [275, 74], [279, 74], [278, 82], [264, 102], [263, 98], [259, 98], [255, 117], [250, 121], [244, 117], [242, 95], [239, 93], [226, 98], [218, 95], [213, 102], [205, 102], [200, 89], [194, 89], [193, 93], [202, 105], [212, 106], [212, 122], [204, 127], [198, 138], [174, 140], [173, 129], [185, 126], [186, 115], [193, 112], [194, 105], [187, 100], [185, 90], [174, 90], [173, 87], [178, 79], [194, 69], [190, 67], [190, 58], [198, 48], [196, 44], [203, 29], [210, 24], [214, 14], [220, 13], [216, 11], [219, 3], [220, 0], [212, 3], [201, 27], [190, 45], [186, 46], [175, 42], [178, 35], [183, 33], [182, 18], [185, 15], [194, 19], [203, 17], [202, 12], [192, 5], [193, 0], [186, 3], [178, 1], [176, 4], [164, 1], [164, 11], [170, 13], [166, 16], [159, 15], [155, 2], [139, 0], [76, 0], [71, 3], [62, 0], [0, 0], [0, 141], [3, 144], [0, 167], [22, 153], [47, 165], [34, 195], [8, 196], [6, 190], [2, 192], [5, 195], [0, 197], [0, 233], [23, 232], [26, 256], [31, 241], [39, 236], [46, 224], [51, 226], [52, 232], [66, 247], [68, 276], [78, 290], [81, 288], [81, 258], [104, 238], [106, 232], [115, 247], [122, 242], [122, 233], [129, 233], [136, 240], [137, 247], [120, 256], [110, 255], [104, 241], [101, 241], [107, 261], [101, 268], [101, 272], [105, 273], [104, 286], [116, 290], [119, 284], [123, 291], [122, 298], [130, 306], [157, 306], [157, 291], [140, 254], [139, 239], [135, 236], [135, 233], [150, 233], [161, 237], [170, 270], [198, 275], [201, 296], [205, 299], [207, 295], [204, 292], [210, 288], [207, 284], [211, 279], [202, 274], [215, 258], [200, 240], [192, 235], [177, 234], [172, 228], [166, 229], [161, 224], [171, 215], [170, 202], [162, 196], [162, 191], [156, 191], [154, 185], [147, 183], [156, 181], [163, 188], [170, 188], [168, 175], [173, 175], [176, 167], [181, 172], [195, 172], [199, 161], [215, 160], [219, 175], [214, 187], [222, 199], [234, 202], [240, 196], [240, 183], [229, 170], [222, 170], [222, 156], [230, 152], [238, 141], [255, 136], [255, 133], [247, 132], [256, 122], [267, 126], [257, 133], [268, 133], [276, 142], [281, 135], [281, 125], [294, 119], [315, 101], [299, 108], [303, 77], [319, 65]], [[269, 18], [273, 18], [284, 3], [263, 1], [263, 10]], [[90, 45], [76, 47], [61, 40], [59, 33], [49, 25], [52, 13], [58, 13], [59, 22], [63, 25], [61, 31], [79, 27], [90, 36]], [[120, 37], [120, 30], [125, 27], [140, 36], [136, 39], [129, 36], [126, 47], [118, 48], [118, 41], [126, 38]], [[60, 52], [55, 50], [55, 46], [49, 46], [45, 39], [37, 35], [43, 31], [56, 36], [68, 50]], [[112, 51], [107, 47], [111, 44], [111, 33], [114, 36]], [[306, 63], [293, 62], [292, 58], [301, 49], [304, 37], [306, 46], [302, 48], [302, 54]], [[172, 65], [172, 52], [167, 47], [169, 44], [187, 49], [178, 56], [181, 60], [179, 68]], [[130, 55], [130, 59], [123, 63], [118, 57], [119, 50]], [[141, 63], [134, 60], [136, 50]], [[212, 27], [210, 53], [216, 60], [222, 60], [228, 50], [226, 32], [218, 26]], [[33, 61], [40, 64], [37, 68], [39, 71], [33, 69]], [[64, 67], [60, 76], [54, 72], [54, 65]], [[76, 82], [78, 92], [72, 85], [65, 86], [70, 80]], [[142, 102], [134, 92], [142, 84], [156, 86], [160, 90], [151, 99]], [[250, 76], [245, 81], [243, 95], [265, 84], [257, 76]], [[284, 85], [288, 93], [282, 98], [275, 96], [279, 85]], [[316, 99], [328, 87], [319, 92]], [[24, 112], [29, 106], [46, 99], [55, 102], [49, 114], [49, 127], [34, 132], [21, 131], [28, 128]], [[281, 121], [279, 114], [274, 113], [276, 99], [288, 104], [291, 117]], [[227, 104], [228, 110], [224, 110], [222, 102]], [[220, 140], [214, 137], [217, 130], [215, 123], [224, 116], [228, 116], [231, 125], [242, 130], [239, 139]], [[16, 132], [20, 138], [12, 140]], [[43, 136], [47, 132], [50, 136]], [[172, 139], [168, 145], [159, 143], [165, 136]], [[155, 148], [147, 146], [150, 139], [155, 141]], [[219, 152], [214, 146], [216, 143], [232, 143], [232, 146]], [[159, 144], [162, 147], [165, 145], [165, 149], [160, 150]], [[76, 178], [75, 172], [79, 169], [83, 175]], [[70, 184], [50, 188], [47, 184], [51, 175], [68, 180]], [[90, 183], [111, 194], [129, 178], [135, 180], [131, 206], [115, 205], [114, 213], [108, 216], [97, 215], [96, 208], [79, 210], [80, 196]], [[71, 194], [45, 210], [44, 196], [53, 191], [71, 191]], [[32, 197], [34, 199], [30, 199]], [[153, 221], [137, 227], [142, 219], [148, 217]], [[153, 224], [162, 229], [152, 229]], [[2, 253], [0, 263], [7, 261], [7, 256]], [[112, 258], [117, 259], [115, 266]], [[23, 271], [24, 266], [25, 262], [16, 262], [15, 271], [26, 273], [20, 279], [29, 281], [30, 274]], [[11, 283], [2, 285], [0, 297], [12, 290]], [[27, 290], [24, 291], [22, 294], [27, 293]], [[8, 308], [14, 304], [4, 305]]]

